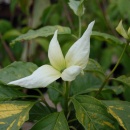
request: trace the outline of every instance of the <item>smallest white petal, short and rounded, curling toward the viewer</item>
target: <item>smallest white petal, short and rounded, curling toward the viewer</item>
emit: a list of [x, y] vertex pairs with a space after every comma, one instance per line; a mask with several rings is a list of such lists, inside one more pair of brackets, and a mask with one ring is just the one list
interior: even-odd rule
[[61, 78], [64, 81], [72, 81], [81, 73], [81, 71], [82, 69], [80, 66], [70, 66], [62, 72]]

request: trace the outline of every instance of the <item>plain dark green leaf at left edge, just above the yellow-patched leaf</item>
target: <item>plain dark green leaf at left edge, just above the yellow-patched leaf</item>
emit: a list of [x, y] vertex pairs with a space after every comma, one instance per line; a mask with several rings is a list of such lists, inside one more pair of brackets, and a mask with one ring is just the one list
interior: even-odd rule
[[22, 96], [25, 96], [25, 94], [13, 87], [0, 84], [0, 101], [11, 100]]

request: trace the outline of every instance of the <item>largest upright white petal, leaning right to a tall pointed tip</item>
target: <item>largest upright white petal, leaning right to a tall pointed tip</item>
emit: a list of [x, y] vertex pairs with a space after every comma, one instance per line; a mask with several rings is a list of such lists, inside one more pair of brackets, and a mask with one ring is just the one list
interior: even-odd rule
[[81, 66], [82, 69], [86, 67], [89, 58], [90, 35], [93, 25], [94, 21], [89, 24], [82, 37], [76, 41], [67, 52], [65, 56], [67, 67], [72, 65]]

